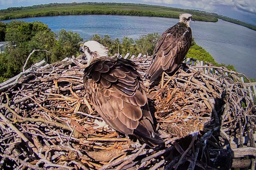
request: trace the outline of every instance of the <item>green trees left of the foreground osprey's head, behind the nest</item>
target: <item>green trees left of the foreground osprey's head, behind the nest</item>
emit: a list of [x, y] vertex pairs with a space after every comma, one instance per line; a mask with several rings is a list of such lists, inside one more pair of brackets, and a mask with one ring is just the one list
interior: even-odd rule
[[[59, 40], [56, 40], [58, 38]], [[27, 68], [43, 59], [48, 63], [59, 61], [77, 53], [78, 42], [83, 39], [77, 33], [61, 30], [54, 34], [42, 22], [15, 21], [0, 23], [1, 41], [9, 41], [9, 46], [0, 54], [0, 81], [4, 81], [22, 71], [28, 55], [33, 49], [47, 50], [35, 52], [27, 63]]]

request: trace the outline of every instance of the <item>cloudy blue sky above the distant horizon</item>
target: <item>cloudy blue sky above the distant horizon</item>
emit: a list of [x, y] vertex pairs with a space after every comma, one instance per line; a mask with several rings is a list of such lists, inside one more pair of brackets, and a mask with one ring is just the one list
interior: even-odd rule
[[[82, 0], [0, 0], [0, 9], [48, 3], [88, 2]], [[92, 2], [92, 1], [91, 1]], [[127, 2], [162, 5], [215, 12], [256, 25], [256, 0], [93, 0], [93, 2]]]

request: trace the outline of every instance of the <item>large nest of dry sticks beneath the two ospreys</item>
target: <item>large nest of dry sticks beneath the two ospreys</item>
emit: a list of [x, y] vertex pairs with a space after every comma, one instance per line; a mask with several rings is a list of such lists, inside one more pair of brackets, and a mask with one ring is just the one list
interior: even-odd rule
[[[79, 58], [24, 72], [0, 88], [0, 169], [254, 169], [255, 105], [234, 72], [205, 74], [184, 64], [147, 88], [166, 144], [152, 149], [134, 147], [102, 122], [86, 97]], [[142, 76], [150, 60], [133, 59]]]

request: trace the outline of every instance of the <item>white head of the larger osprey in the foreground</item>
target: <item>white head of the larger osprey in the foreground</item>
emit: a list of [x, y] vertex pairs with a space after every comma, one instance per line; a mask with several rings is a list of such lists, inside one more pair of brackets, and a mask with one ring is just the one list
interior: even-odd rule
[[[108, 56], [108, 48], [96, 41], [87, 41], [79, 48], [87, 57], [87, 64], [89, 65], [93, 59]], [[83, 58], [85, 59], [85, 57]]]

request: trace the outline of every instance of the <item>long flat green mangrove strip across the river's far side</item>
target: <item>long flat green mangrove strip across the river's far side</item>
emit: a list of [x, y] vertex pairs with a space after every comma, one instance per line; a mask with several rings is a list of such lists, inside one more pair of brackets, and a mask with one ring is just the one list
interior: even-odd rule
[[218, 19], [209, 13], [198, 10], [185, 10], [146, 4], [131, 3], [53, 3], [45, 5], [34, 5], [30, 7], [12, 7], [0, 10], [0, 20], [57, 16], [57, 15], [85, 15], [85, 14], [104, 14], [104, 15], [133, 15], [133, 16], [154, 16], [179, 18], [180, 13], [191, 13], [198, 21], [217, 22]]

